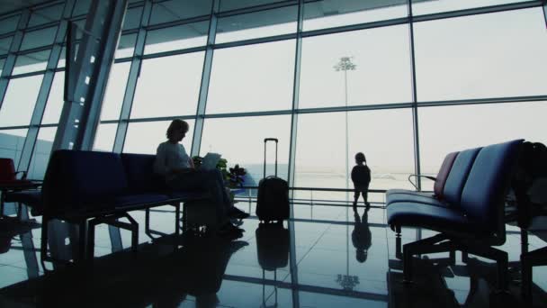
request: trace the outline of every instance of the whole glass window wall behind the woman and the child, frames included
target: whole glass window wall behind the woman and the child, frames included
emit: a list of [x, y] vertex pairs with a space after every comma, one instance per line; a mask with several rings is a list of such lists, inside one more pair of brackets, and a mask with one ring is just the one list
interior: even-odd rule
[[[211, 12], [212, 1], [152, 2], [149, 12], [145, 3], [130, 4], [94, 149], [155, 153], [168, 123], [183, 117], [191, 124], [189, 152], [219, 152], [256, 182], [262, 142], [275, 137], [278, 173], [291, 186], [351, 187], [345, 161], [352, 168], [355, 152], [363, 151], [371, 188], [384, 190], [411, 188], [409, 174], [435, 174], [455, 149], [547, 141], [547, 33], [539, 2], [414, 0], [409, 10], [407, 1], [326, 0], [303, 1], [299, 10], [297, 1], [223, 0], [219, 12]], [[85, 14], [86, 4], [76, 2], [74, 14]], [[60, 9], [52, 8], [31, 14], [31, 28], [12, 53], [20, 16], [0, 17], [0, 69], [11, 69], [0, 133], [19, 140], [3, 142], [14, 144], [3, 147], [13, 158], [21, 156], [58, 31]], [[4, 68], [13, 63], [9, 57], [13, 68]], [[341, 67], [342, 58], [350, 67]], [[49, 98], [36, 144], [57, 131], [64, 74], [58, 70], [49, 91], [40, 91]], [[49, 150], [33, 149], [28, 165], [40, 177], [35, 162]], [[381, 194], [372, 201], [382, 201]]]

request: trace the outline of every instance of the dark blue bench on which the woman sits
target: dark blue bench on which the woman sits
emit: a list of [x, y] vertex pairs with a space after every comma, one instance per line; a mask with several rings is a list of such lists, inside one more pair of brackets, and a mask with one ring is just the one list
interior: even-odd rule
[[[173, 191], [163, 177], [154, 173], [155, 159], [155, 155], [147, 154], [55, 151], [49, 159], [41, 193], [23, 196], [30, 203], [40, 201], [43, 208], [42, 263], [46, 259], [53, 260], [48, 256], [48, 224], [53, 219], [79, 226], [78, 258], [94, 257], [94, 227], [100, 223], [130, 230], [131, 247], [136, 249], [139, 223], [130, 216], [131, 211], [146, 211], [145, 231], [152, 237], [150, 208], [175, 206], [175, 233], [178, 234], [180, 204], [210, 195]], [[119, 222], [120, 218], [127, 218], [129, 223]]]

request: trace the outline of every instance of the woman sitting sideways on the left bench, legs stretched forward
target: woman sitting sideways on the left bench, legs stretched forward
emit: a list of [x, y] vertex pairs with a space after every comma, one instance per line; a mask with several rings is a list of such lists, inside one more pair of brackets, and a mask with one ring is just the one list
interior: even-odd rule
[[248, 213], [231, 204], [224, 179], [218, 169], [196, 170], [193, 160], [179, 142], [189, 130], [187, 122], [175, 119], [166, 131], [167, 140], [157, 147], [154, 171], [165, 178], [166, 185], [179, 191], [207, 190], [216, 206], [220, 234], [242, 231], [229, 218], [247, 218]]

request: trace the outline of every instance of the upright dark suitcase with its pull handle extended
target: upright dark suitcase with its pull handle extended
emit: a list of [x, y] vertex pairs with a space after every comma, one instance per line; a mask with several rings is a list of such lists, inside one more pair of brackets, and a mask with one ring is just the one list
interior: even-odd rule
[[[266, 177], [266, 143], [275, 141], [275, 176]], [[258, 183], [256, 216], [260, 221], [273, 222], [289, 219], [289, 185], [277, 177], [277, 139], [264, 140], [264, 178]]]

